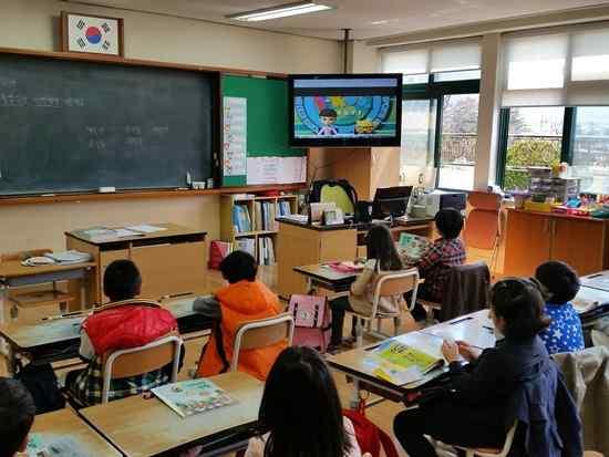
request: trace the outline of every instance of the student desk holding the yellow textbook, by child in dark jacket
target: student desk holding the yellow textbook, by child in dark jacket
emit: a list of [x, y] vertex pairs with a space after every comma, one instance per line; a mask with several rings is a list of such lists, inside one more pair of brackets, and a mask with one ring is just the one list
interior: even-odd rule
[[[395, 336], [394, 339], [403, 344], [411, 345], [436, 357], [442, 357], [441, 347], [445, 337], [458, 340], [461, 336], [465, 336], [465, 341], [471, 342], [473, 345], [476, 343], [476, 345], [491, 347], [495, 345], [495, 337], [487, 329], [484, 328], [484, 325], [488, 322], [487, 318], [485, 318], [485, 314], [487, 313], [488, 310], [477, 311], [468, 314], [467, 316], [461, 316], [452, 321], [444, 322], [443, 324], [433, 325], [423, 331], [404, 333], [400, 336]], [[464, 318], [468, 319], [465, 321]], [[464, 329], [462, 322], [468, 322], [468, 328]], [[453, 325], [451, 325], [451, 323], [453, 323]], [[446, 365], [444, 365], [443, 368], [430, 372], [417, 382], [405, 385], [395, 385], [389, 381], [376, 377], [367, 364], [367, 359], [370, 356], [370, 351], [378, 346], [379, 343], [375, 343], [365, 347], [358, 347], [341, 354], [331, 355], [328, 357], [328, 363], [332, 368], [353, 377], [355, 381], [363, 382], [365, 385], [370, 386], [374, 393], [393, 402], [401, 402], [403, 395], [409, 390], [423, 385], [424, 383], [432, 381], [440, 373], [446, 371]]]

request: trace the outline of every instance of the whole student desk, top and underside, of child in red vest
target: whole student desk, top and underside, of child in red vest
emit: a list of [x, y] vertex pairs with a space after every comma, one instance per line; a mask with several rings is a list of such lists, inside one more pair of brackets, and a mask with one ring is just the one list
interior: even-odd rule
[[[193, 311], [194, 298], [164, 303], [178, 321], [180, 334], [209, 330], [213, 321]], [[0, 335], [9, 347], [7, 365], [16, 372], [17, 355], [24, 354], [37, 363], [58, 362], [79, 357], [81, 323], [85, 315], [42, 321], [35, 324], [10, 323], [0, 326]]]

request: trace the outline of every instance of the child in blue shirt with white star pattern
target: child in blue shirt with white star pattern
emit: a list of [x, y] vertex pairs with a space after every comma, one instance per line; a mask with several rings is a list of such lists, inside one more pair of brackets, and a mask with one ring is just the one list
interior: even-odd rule
[[550, 354], [574, 352], [584, 349], [581, 321], [571, 304], [579, 291], [579, 278], [565, 262], [551, 260], [535, 270], [535, 279], [544, 285], [548, 299], [545, 313], [551, 319], [550, 325], [539, 336]]

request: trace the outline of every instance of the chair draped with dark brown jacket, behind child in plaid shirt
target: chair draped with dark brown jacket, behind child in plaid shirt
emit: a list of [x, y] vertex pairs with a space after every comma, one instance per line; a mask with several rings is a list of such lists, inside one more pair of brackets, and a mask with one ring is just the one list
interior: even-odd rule
[[454, 266], [446, 278], [442, 302], [419, 299], [419, 303], [427, 311], [427, 323], [433, 321], [434, 310], [441, 322], [448, 321], [485, 309], [489, 288], [491, 272], [485, 262]]

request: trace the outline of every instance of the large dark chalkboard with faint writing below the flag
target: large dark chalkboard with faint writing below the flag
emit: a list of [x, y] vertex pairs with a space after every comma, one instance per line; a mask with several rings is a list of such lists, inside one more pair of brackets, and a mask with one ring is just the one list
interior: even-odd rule
[[0, 196], [214, 176], [219, 75], [0, 54]]

